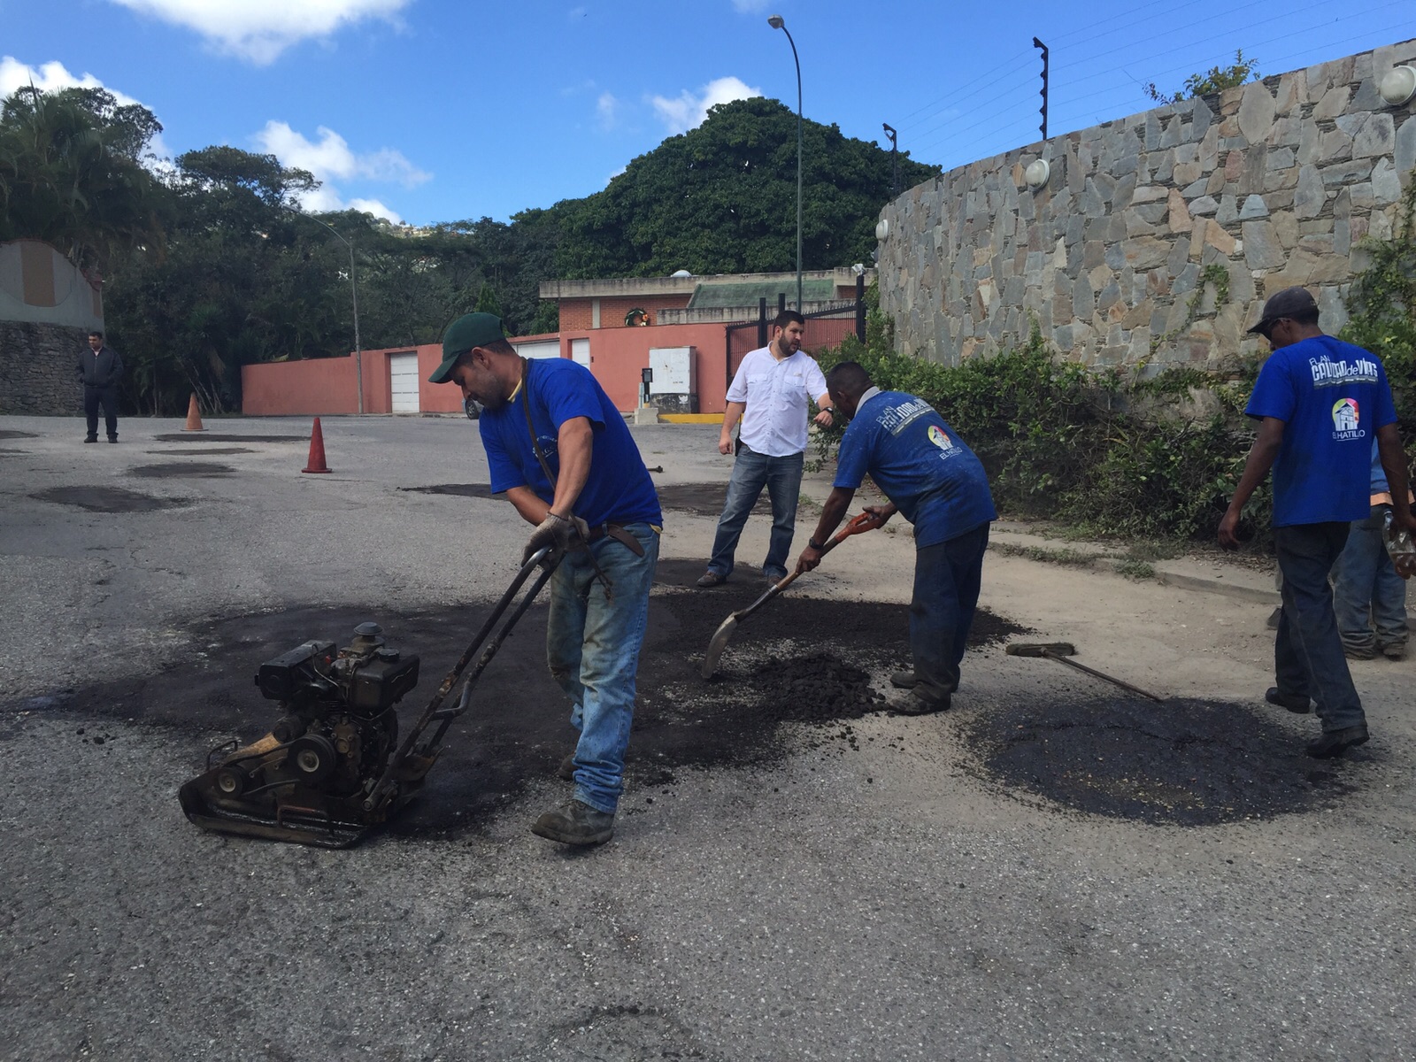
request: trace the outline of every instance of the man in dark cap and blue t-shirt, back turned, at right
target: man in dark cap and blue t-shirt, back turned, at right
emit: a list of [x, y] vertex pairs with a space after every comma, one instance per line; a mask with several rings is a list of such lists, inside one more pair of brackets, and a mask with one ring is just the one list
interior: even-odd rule
[[1307, 750], [1328, 759], [1368, 736], [1342, 656], [1328, 573], [1352, 521], [1369, 513], [1374, 438], [1391, 484], [1393, 530], [1416, 530], [1406, 504], [1406, 455], [1382, 362], [1361, 347], [1324, 336], [1307, 290], [1286, 287], [1272, 296], [1249, 331], [1269, 340], [1273, 354], [1259, 370], [1245, 409], [1260, 421], [1259, 436], [1219, 521], [1219, 544], [1238, 545], [1239, 514], [1272, 467], [1283, 615], [1273, 650], [1277, 685], [1264, 700], [1303, 714], [1308, 698], [1315, 701], [1323, 735]]

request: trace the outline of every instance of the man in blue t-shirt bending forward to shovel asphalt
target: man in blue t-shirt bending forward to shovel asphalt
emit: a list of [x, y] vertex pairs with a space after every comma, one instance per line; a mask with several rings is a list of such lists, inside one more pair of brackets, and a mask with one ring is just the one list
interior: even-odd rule
[[841, 436], [835, 484], [796, 569], [809, 572], [821, 564], [826, 539], [869, 473], [891, 504], [867, 506], [867, 511], [882, 521], [899, 511], [915, 525], [915, 593], [909, 603], [913, 670], [891, 677], [913, 697], [896, 711], [943, 711], [959, 688], [988, 524], [998, 515], [988, 477], [974, 452], [925, 399], [881, 391], [854, 361], [833, 368], [826, 385], [851, 423]]

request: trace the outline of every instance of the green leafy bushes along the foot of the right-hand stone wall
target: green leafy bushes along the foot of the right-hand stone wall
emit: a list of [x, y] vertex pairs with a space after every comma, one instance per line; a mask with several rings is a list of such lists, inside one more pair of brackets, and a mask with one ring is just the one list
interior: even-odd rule
[[[1021, 348], [939, 365], [895, 354], [874, 302], [867, 320], [867, 343], [848, 338], [823, 367], [860, 361], [877, 387], [933, 405], [978, 455], [1000, 511], [1102, 537], [1215, 532], [1253, 442], [1242, 413], [1256, 364], [1232, 381], [1188, 368], [1141, 381], [1058, 361], [1034, 327]], [[821, 457], [838, 439], [821, 435]], [[1250, 506], [1266, 541], [1267, 491]]]

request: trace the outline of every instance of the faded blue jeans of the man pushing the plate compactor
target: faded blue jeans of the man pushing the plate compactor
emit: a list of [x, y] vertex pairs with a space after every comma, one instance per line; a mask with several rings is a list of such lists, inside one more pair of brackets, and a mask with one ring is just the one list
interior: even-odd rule
[[[658, 562], [658, 532], [649, 524], [624, 527], [641, 547], [602, 538], [589, 552], [566, 554], [551, 576], [551, 616], [545, 656], [554, 678], [571, 698], [575, 746], [575, 799], [615, 813], [624, 790], [624, 749], [634, 719], [634, 675], [649, 619], [649, 588]], [[610, 581], [612, 596], [595, 575], [589, 554]]]

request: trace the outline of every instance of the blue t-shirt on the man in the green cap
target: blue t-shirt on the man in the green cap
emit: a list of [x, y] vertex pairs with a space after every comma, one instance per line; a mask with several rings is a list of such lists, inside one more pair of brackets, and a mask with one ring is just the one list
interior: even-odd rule
[[[558, 477], [561, 425], [576, 416], [590, 421], [595, 432], [590, 474], [575, 503], [575, 515], [590, 527], [605, 523], [663, 524], [658, 494], [649, 479], [644, 459], [639, 456], [624, 418], [588, 368], [565, 358], [531, 361], [525, 388], [531, 399], [531, 423], [535, 426], [537, 442], [547, 464]], [[521, 394], [517, 392], [501, 409], [483, 411], [477, 423], [491, 469], [491, 491], [500, 494], [513, 487], [531, 487], [549, 504], [555, 490], [531, 449]]]

